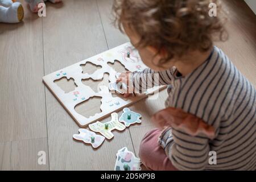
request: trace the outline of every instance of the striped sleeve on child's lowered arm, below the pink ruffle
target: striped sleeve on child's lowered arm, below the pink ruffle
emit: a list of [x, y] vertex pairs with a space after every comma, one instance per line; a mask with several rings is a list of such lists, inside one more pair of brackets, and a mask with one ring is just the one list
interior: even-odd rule
[[208, 166], [209, 139], [202, 135], [191, 136], [172, 129], [173, 142], [166, 144], [166, 154], [180, 170], [204, 170]]

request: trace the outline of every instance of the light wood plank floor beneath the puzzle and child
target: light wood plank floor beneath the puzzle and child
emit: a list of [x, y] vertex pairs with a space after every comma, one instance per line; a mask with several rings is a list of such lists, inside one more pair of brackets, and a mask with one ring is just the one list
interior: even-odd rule
[[[23, 23], [0, 23], [0, 169], [112, 170], [120, 148], [138, 155], [143, 135], [154, 128], [150, 115], [164, 108], [166, 91], [157, 101], [131, 106], [142, 114], [142, 124], [114, 132], [113, 140], [94, 151], [73, 140], [79, 126], [42, 82], [44, 75], [128, 41], [110, 24], [112, 0], [47, 3], [46, 18], [22, 3]], [[224, 3], [229, 40], [217, 46], [256, 85], [255, 15], [242, 0]], [[38, 164], [39, 151], [46, 152], [46, 165]]]

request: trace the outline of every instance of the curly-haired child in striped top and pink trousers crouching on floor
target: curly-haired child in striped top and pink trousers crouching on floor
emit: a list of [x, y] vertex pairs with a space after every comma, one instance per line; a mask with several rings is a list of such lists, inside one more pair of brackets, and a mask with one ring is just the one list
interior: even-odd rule
[[[117, 81], [137, 92], [148, 82], [168, 85], [166, 109], [152, 117], [159, 127], [140, 146], [148, 169], [256, 169], [256, 91], [213, 46], [225, 29], [218, 16], [209, 16], [211, 2], [220, 11], [214, 0], [114, 2], [115, 22], [149, 67], [122, 73]], [[217, 155], [214, 165], [210, 151]]]

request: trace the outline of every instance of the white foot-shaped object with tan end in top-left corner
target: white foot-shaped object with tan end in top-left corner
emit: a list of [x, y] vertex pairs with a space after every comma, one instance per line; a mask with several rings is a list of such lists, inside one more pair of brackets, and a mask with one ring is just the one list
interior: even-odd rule
[[13, 3], [10, 7], [0, 6], [0, 22], [18, 23], [24, 17], [24, 10], [19, 2]]

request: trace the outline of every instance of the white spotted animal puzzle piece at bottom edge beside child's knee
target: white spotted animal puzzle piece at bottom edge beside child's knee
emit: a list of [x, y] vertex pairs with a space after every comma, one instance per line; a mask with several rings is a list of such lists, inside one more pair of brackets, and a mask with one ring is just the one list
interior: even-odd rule
[[117, 152], [115, 171], [141, 171], [141, 159], [136, 158], [133, 152], [123, 147]]

